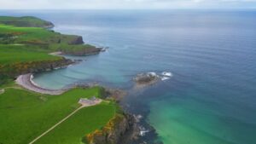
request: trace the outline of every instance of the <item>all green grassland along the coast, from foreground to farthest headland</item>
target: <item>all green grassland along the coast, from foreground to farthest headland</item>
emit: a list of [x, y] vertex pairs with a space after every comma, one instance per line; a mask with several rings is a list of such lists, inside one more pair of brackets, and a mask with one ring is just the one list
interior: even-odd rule
[[[102, 96], [100, 87], [42, 95], [15, 84], [14, 78], [20, 73], [64, 60], [49, 55], [50, 52], [73, 54], [95, 49], [89, 44], [75, 44], [81, 40], [79, 36], [42, 28], [50, 25], [34, 17], [0, 16], [0, 144], [27, 144], [80, 107], [80, 98]], [[118, 113], [118, 108], [116, 103], [108, 101], [84, 107], [36, 143], [83, 143], [84, 136], [101, 129]]]

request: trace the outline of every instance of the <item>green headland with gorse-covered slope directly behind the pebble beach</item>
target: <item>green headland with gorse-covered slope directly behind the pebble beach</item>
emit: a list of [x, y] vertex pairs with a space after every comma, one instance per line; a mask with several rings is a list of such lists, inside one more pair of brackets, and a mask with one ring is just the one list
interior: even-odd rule
[[63, 57], [48, 55], [45, 51], [32, 45], [0, 44], [0, 84], [19, 74], [42, 72], [72, 63]]

